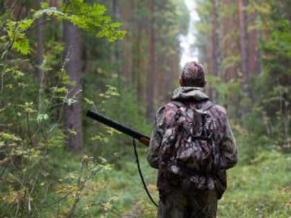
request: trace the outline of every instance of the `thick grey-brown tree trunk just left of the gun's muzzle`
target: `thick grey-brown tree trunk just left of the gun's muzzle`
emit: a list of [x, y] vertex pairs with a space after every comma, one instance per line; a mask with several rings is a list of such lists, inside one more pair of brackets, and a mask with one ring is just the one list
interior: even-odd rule
[[[64, 22], [64, 42], [66, 44], [66, 71], [69, 75], [68, 99], [77, 102], [64, 107], [64, 131], [67, 136], [67, 148], [80, 152], [82, 149], [82, 116], [81, 116], [81, 33], [80, 30], [69, 22]], [[66, 60], [65, 60], [66, 61]]]

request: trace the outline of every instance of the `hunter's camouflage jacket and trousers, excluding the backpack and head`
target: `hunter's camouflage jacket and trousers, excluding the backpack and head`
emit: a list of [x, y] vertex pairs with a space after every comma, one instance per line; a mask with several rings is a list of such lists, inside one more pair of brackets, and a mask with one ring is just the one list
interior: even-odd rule
[[[173, 120], [173, 116], [175, 116], [179, 109], [173, 101], [181, 102], [182, 104], [195, 104], [197, 109], [205, 109], [205, 112], [215, 120], [213, 135], [215, 136], [215, 144], [218, 145], [220, 150], [220, 169], [211, 175], [193, 173], [192, 179], [194, 180], [192, 181], [205, 183], [201, 185], [203, 187], [201, 189], [197, 189], [190, 178], [183, 178], [179, 183], [173, 183], [173, 181], [170, 181], [165, 176], [165, 167], [161, 167], [160, 164], [160, 151], [163, 149], [161, 142], [164, 138], [166, 127], [170, 120]], [[148, 161], [150, 165], [159, 168], [157, 181], [161, 199], [159, 217], [170, 217], [170, 215], [175, 213], [179, 213], [181, 216], [177, 215], [172, 217], [183, 217], [182, 214], [186, 215], [189, 212], [191, 215], [187, 215], [186, 217], [193, 217], [193, 212], [199, 211], [200, 213], [197, 213], [196, 217], [215, 216], [216, 210], [211, 210], [211, 208], [217, 207], [217, 199], [220, 199], [226, 189], [227, 178], [225, 170], [236, 163], [236, 154], [235, 140], [227, 121], [225, 109], [219, 105], [213, 105], [209, 101], [208, 96], [200, 88], [181, 87], [176, 89], [172, 101], [157, 111], [155, 129], [152, 131], [148, 150]], [[209, 185], [208, 183], [213, 183], [213, 185]], [[196, 201], [197, 199], [199, 201]], [[209, 206], [211, 207], [209, 208]], [[207, 213], [206, 211], [209, 212]], [[198, 216], [198, 214], [200, 215]]]

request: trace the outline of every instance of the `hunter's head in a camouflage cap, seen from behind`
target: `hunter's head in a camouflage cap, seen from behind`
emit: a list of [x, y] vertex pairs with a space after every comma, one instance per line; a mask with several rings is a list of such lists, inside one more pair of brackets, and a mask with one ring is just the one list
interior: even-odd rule
[[197, 62], [187, 62], [179, 78], [181, 87], [205, 87], [204, 69]]

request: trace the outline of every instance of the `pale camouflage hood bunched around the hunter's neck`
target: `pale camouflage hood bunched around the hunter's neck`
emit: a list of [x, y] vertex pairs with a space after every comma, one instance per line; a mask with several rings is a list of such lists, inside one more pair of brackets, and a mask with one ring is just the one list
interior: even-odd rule
[[209, 97], [200, 87], [179, 87], [173, 92], [172, 100], [208, 100]]

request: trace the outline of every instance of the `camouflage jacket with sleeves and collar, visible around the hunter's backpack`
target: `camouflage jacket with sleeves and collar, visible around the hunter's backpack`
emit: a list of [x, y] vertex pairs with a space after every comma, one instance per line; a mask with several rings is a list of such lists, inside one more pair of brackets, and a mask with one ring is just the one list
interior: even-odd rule
[[[205, 105], [210, 102], [209, 97], [206, 96], [201, 88], [197, 87], [180, 87], [176, 89], [173, 93], [172, 100], [195, 102], [198, 109], [202, 107], [205, 108]], [[157, 110], [155, 127], [152, 131], [150, 146], [148, 148], [148, 162], [152, 167], [157, 169], [159, 168], [161, 140], [166, 131], [167, 122], [173, 118], [175, 111], [177, 111], [177, 107], [173, 102], [168, 102], [168, 104]], [[217, 129], [220, 129], [219, 133], [215, 136], [215, 143], [220, 149], [220, 170], [215, 172], [215, 174], [211, 174], [211, 176], [193, 174], [189, 179], [196, 183], [199, 181], [198, 183], [201, 184], [201, 187], [204, 186], [209, 190], [218, 190], [218, 196], [220, 198], [222, 197], [224, 190], [227, 188], [226, 170], [233, 167], [237, 162], [237, 147], [229, 126], [226, 110], [220, 105], [214, 105], [207, 111], [207, 113], [217, 119], [218, 122], [216, 123], [219, 125]], [[160, 192], [168, 191], [170, 189], [168, 181], [166, 181], [163, 174], [163, 169], [159, 169], [157, 185]]]

